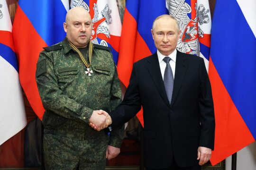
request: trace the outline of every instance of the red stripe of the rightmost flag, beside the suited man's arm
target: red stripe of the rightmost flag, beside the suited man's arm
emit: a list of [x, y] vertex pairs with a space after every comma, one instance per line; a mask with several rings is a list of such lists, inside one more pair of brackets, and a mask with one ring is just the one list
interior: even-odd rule
[[210, 59], [209, 77], [215, 111], [215, 145], [210, 162], [212, 165], [255, 141], [239, 114], [228, 91]]

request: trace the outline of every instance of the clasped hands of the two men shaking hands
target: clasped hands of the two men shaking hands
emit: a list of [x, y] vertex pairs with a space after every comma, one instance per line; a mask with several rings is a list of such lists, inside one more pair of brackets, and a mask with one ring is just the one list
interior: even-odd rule
[[110, 115], [104, 110], [93, 110], [89, 119], [89, 125], [97, 131], [110, 126], [111, 123], [112, 119]]

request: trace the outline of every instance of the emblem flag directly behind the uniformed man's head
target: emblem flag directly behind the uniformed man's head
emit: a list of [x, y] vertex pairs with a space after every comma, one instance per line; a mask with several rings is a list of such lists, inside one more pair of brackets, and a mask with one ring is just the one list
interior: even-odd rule
[[110, 47], [117, 64], [121, 20], [116, 0], [72, 0], [71, 8], [85, 8], [92, 18], [91, 42]]

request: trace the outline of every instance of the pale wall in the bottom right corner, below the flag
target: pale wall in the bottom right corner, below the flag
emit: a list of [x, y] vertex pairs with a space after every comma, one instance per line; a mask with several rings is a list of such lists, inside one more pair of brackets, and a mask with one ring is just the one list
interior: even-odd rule
[[[226, 159], [226, 170], [231, 170], [231, 156]], [[256, 142], [238, 151], [237, 170], [256, 170]]]

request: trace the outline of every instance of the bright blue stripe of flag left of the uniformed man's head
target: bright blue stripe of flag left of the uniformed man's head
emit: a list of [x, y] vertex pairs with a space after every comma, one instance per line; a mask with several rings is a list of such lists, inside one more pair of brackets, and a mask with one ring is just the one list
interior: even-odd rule
[[48, 46], [64, 39], [67, 11], [61, 0], [19, 0], [18, 4]]

